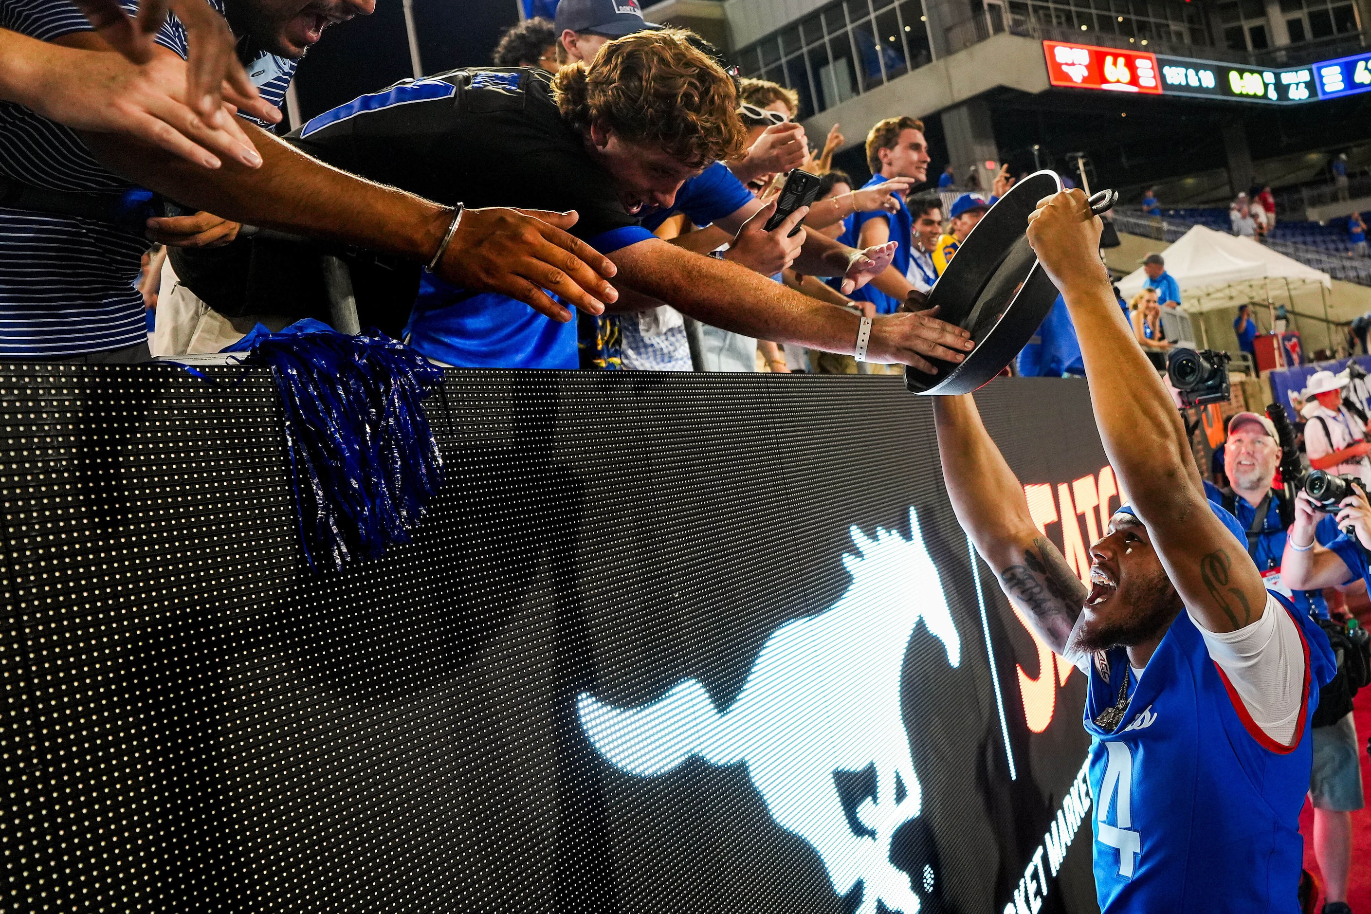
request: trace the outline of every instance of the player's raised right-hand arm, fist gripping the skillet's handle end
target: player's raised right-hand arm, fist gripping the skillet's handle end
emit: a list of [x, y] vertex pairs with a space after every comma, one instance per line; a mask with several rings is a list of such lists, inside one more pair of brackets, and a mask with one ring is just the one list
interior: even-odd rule
[[1186, 607], [1211, 632], [1234, 632], [1261, 618], [1261, 576], [1205, 503], [1180, 415], [1113, 299], [1100, 232], [1080, 190], [1046, 197], [1028, 222], [1028, 241], [1076, 326], [1095, 425], [1120, 488]]

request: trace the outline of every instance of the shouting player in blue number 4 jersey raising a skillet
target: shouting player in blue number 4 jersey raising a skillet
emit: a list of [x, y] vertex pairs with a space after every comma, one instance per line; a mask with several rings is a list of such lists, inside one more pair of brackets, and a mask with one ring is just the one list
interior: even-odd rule
[[1100, 232], [1080, 190], [1042, 200], [1028, 227], [1130, 500], [1090, 547], [1089, 586], [1035, 526], [971, 396], [935, 400], [943, 475], [1009, 600], [1090, 680], [1101, 909], [1294, 914], [1309, 718], [1333, 656], [1206, 502], [1180, 414], [1111, 292]]

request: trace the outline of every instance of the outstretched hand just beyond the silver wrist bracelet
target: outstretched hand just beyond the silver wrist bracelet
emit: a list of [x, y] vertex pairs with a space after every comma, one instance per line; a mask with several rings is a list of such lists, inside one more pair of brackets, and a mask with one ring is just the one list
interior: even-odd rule
[[566, 233], [576, 219], [574, 211], [466, 210], [437, 274], [473, 292], [518, 299], [561, 323], [570, 321], [572, 312], [547, 292], [587, 314], [602, 314], [605, 301], [618, 300], [606, 282], [617, 270], [609, 258]]

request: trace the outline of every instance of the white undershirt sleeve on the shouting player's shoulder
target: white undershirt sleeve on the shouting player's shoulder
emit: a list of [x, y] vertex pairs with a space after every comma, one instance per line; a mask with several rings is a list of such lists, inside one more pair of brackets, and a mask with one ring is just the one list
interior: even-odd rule
[[1290, 745], [1304, 699], [1304, 643], [1290, 613], [1270, 593], [1261, 618], [1237, 632], [1211, 632], [1189, 607], [1186, 613], [1252, 722]]

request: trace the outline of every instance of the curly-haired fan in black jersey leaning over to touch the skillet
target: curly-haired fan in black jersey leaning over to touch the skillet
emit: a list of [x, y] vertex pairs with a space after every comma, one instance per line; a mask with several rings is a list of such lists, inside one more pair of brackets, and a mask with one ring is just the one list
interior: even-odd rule
[[[557, 77], [455, 70], [399, 84], [319, 115], [291, 141], [439, 203], [576, 210], [570, 232], [618, 269], [614, 310], [665, 301], [746, 336], [853, 354], [857, 315], [639, 225], [638, 217], [670, 207], [686, 180], [742, 151], [736, 107], [732, 79], [684, 33], [662, 30], [611, 41], [588, 66]], [[816, 233], [795, 270], [861, 285], [888, 262], [888, 247], [861, 252]], [[573, 369], [572, 311], [554, 317], [425, 273], [409, 332], [421, 352], [447, 365]], [[932, 370], [924, 356], [958, 362], [971, 348], [965, 332], [928, 312], [876, 318], [871, 330], [872, 360], [924, 371]]]

